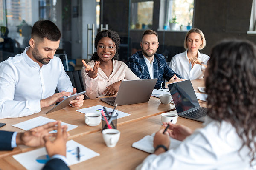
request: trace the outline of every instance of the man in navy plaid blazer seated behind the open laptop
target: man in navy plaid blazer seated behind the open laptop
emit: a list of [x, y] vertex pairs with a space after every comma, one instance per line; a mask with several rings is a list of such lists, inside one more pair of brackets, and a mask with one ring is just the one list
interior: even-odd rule
[[168, 88], [168, 84], [184, 79], [167, 65], [163, 55], [156, 54], [158, 45], [157, 33], [153, 30], [145, 30], [140, 42], [142, 51], [137, 51], [128, 59], [128, 67], [140, 79], [157, 78], [155, 89]]

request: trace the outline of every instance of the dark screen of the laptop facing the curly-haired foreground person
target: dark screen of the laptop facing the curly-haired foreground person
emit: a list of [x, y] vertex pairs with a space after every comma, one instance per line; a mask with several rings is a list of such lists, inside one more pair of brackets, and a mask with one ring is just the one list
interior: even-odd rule
[[199, 106], [190, 80], [168, 85], [177, 113]]

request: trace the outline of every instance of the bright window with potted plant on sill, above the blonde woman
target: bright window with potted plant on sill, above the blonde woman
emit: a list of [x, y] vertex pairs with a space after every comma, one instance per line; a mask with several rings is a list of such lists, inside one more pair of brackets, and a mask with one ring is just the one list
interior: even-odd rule
[[194, 0], [162, 0], [159, 28], [176, 31], [190, 30], [193, 24], [193, 13]]

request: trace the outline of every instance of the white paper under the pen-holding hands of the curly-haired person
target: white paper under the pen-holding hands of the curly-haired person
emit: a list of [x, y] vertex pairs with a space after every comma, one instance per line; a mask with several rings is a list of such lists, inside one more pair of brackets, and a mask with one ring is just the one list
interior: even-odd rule
[[[152, 135], [145, 136], [143, 139], [140, 139], [139, 141], [134, 142], [132, 144], [132, 147], [135, 147], [139, 150], [143, 150], [148, 153], [154, 153], [154, 147], [153, 147], [154, 135], [155, 135], [155, 133], [153, 133]], [[181, 143], [181, 141], [178, 141], [171, 137], [170, 137], [170, 141], [171, 142], [170, 142], [169, 149], [174, 149], [174, 148], [178, 147]]]

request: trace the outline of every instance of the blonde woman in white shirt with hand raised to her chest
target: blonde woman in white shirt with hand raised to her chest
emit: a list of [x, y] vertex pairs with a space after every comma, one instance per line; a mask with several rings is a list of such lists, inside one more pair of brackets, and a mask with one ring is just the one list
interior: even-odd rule
[[201, 30], [193, 28], [187, 32], [184, 40], [185, 52], [172, 57], [169, 67], [184, 79], [201, 79], [207, 68], [209, 56], [199, 50], [206, 45], [204, 34]]

